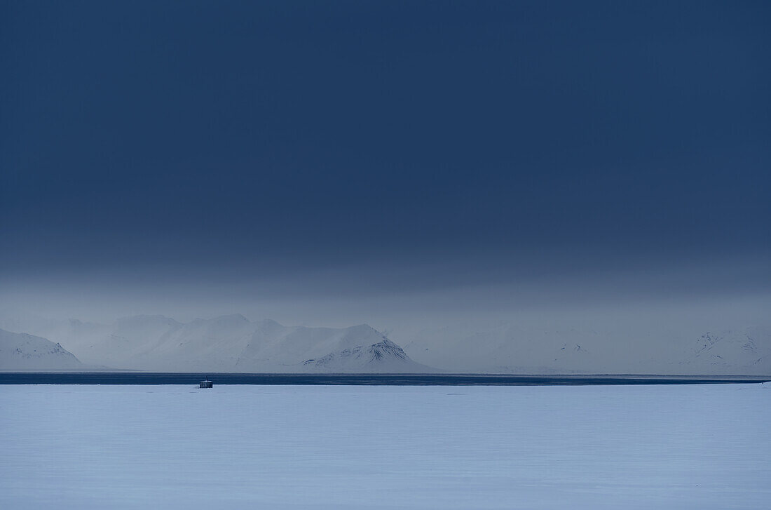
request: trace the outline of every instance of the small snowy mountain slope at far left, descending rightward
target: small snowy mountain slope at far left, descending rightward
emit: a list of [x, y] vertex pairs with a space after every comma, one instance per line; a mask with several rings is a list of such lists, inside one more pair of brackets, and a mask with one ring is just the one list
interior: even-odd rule
[[0, 370], [87, 370], [87, 367], [59, 343], [0, 329]]

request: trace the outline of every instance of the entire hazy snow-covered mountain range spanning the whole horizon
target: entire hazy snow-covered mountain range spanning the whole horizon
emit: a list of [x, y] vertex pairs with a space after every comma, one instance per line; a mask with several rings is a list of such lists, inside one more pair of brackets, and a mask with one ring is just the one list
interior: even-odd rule
[[[591, 329], [515, 323], [425, 329], [404, 348], [365, 324], [283, 326], [241, 315], [3, 323], [0, 370], [261, 373], [771, 374], [771, 328]], [[23, 329], [22, 329], [23, 328]], [[99, 367], [102, 367], [99, 369]]]

